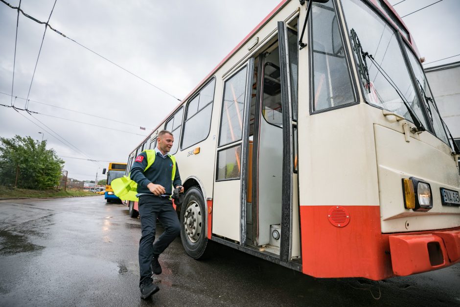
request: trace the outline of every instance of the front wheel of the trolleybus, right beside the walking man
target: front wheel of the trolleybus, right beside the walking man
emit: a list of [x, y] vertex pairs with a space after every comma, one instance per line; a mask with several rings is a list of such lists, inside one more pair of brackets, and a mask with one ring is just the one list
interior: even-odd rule
[[200, 259], [205, 254], [206, 212], [201, 191], [197, 188], [188, 189], [181, 208], [181, 240], [185, 252], [193, 259]]

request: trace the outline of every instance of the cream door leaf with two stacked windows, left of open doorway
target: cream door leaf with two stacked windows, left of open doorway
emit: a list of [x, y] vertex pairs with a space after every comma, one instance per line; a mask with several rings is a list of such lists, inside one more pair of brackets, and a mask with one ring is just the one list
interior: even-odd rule
[[216, 177], [213, 191], [212, 233], [246, 244], [247, 155], [253, 58], [224, 81]]

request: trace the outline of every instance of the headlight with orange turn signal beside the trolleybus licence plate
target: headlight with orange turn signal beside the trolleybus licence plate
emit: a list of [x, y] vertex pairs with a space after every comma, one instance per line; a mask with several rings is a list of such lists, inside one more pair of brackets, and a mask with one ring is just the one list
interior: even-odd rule
[[404, 208], [414, 211], [428, 211], [433, 208], [430, 184], [415, 177], [403, 178]]

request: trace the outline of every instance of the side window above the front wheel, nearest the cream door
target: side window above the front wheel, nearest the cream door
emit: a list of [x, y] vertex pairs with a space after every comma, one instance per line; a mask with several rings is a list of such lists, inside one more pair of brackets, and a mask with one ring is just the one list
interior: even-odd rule
[[188, 102], [182, 149], [205, 140], [209, 135], [215, 84], [216, 81], [213, 79], [196, 97]]

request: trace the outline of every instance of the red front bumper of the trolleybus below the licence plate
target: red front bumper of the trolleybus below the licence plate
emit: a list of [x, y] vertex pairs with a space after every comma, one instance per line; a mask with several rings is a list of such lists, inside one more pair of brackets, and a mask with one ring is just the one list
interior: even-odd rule
[[460, 230], [389, 236], [393, 272], [399, 276], [460, 262]]

